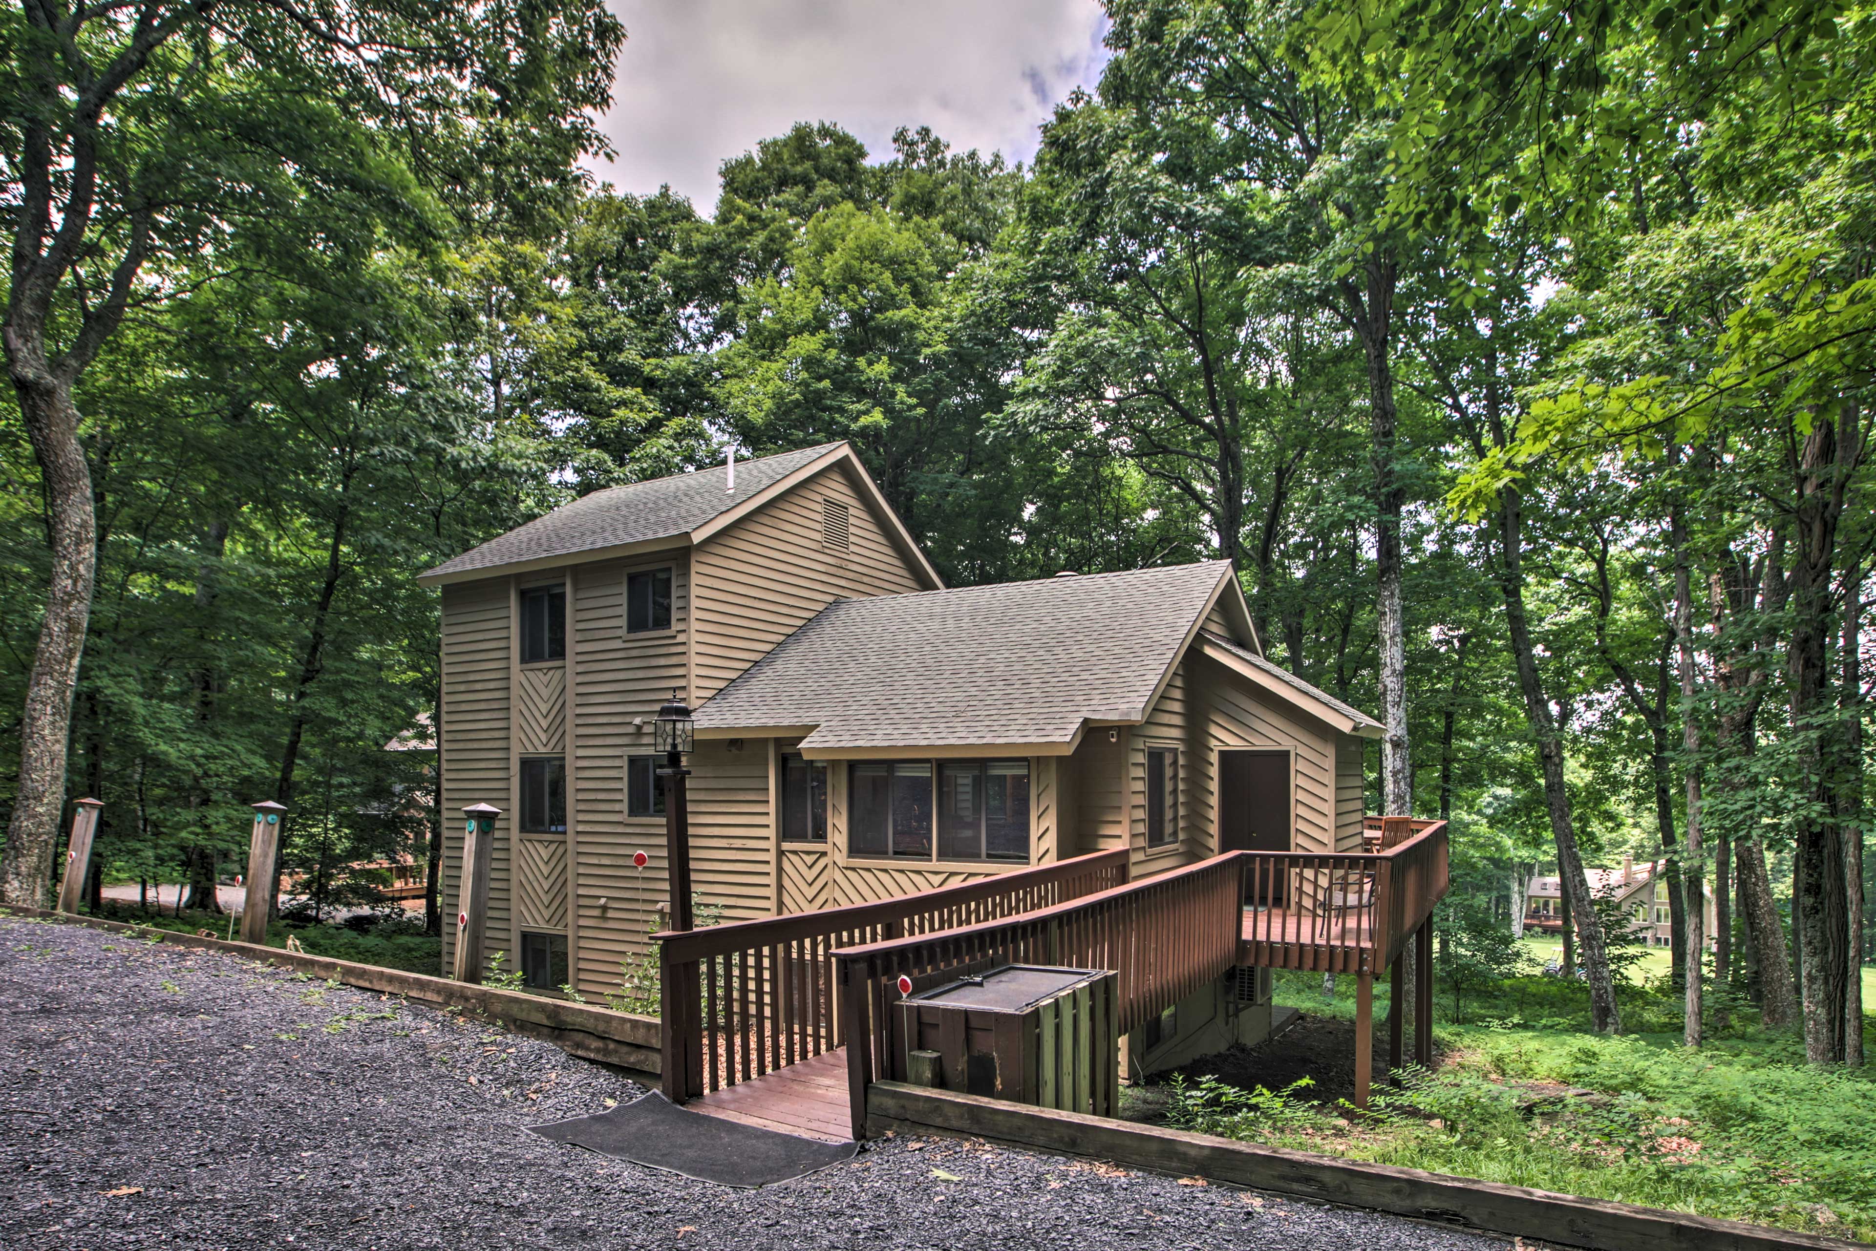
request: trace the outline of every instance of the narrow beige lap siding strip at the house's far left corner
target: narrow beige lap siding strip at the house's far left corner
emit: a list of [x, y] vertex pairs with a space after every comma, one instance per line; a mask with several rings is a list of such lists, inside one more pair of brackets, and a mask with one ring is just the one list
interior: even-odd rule
[[[461, 906], [461, 810], [503, 810], [495, 853], [507, 859], [514, 803], [508, 793], [508, 580], [443, 587], [443, 915]], [[492, 883], [493, 885], [493, 883]], [[488, 953], [507, 947], [508, 893], [492, 891]], [[443, 968], [456, 958], [456, 927], [443, 927]]]

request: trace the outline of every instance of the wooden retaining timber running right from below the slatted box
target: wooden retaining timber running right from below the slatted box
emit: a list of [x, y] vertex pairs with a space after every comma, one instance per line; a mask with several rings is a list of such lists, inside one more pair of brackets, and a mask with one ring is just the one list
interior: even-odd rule
[[1591, 1251], [1868, 1251], [1868, 1243], [1745, 1221], [1311, 1155], [899, 1082], [869, 1086], [865, 1110], [874, 1133], [966, 1135]]

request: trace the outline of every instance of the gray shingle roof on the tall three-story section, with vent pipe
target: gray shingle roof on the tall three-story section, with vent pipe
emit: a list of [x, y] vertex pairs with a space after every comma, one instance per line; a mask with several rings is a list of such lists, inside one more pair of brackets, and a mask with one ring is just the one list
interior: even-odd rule
[[726, 465], [593, 491], [535, 518], [527, 525], [490, 538], [480, 548], [471, 548], [424, 576], [437, 578], [520, 561], [578, 555], [595, 548], [677, 538], [741, 505], [750, 495], [760, 495], [780, 478], [837, 446], [840, 445], [824, 443], [799, 452], [739, 461], [734, 491], [726, 490]]

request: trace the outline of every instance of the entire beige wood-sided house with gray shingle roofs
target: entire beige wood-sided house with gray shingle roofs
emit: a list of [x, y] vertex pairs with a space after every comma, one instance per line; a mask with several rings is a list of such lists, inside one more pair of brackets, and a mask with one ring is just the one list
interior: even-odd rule
[[1120, 846], [1135, 876], [1362, 846], [1379, 726], [1263, 658], [1229, 563], [947, 591], [844, 443], [597, 491], [422, 581], [445, 810], [503, 810], [484, 958], [542, 988], [600, 996], [645, 947], [673, 690], [724, 919]]

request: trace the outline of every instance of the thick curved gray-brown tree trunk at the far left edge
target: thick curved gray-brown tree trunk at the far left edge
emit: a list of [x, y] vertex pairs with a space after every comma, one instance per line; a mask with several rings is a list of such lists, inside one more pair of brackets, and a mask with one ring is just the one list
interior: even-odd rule
[[92, 475], [79, 443], [79, 411], [71, 383], [39, 364], [41, 343], [9, 321], [6, 351], [19, 396], [26, 435], [39, 461], [45, 491], [53, 576], [45, 593], [45, 619], [26, 675], [26, 707], [21, 715], [19, 782], [8, 820], [6, 852], [0, 853], [0, 902], [43, 908], [53, 889], [53, 852], [58, 818], [66, 806], [66, 750], [71, 731], [71, 696], [84, 655], [84, 628], [92, 615], [98, 518], [92, 512]]

